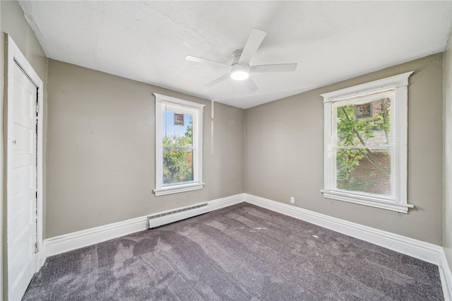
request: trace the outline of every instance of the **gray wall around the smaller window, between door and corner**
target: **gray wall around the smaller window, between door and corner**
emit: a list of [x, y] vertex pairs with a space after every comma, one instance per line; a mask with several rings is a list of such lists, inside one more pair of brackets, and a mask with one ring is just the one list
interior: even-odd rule
[[[49, 59], [47, 231], [54, 237], [244, 192], [244, 110]], [[155, 98], [204, 107], [198, 191], [155, 197]]]

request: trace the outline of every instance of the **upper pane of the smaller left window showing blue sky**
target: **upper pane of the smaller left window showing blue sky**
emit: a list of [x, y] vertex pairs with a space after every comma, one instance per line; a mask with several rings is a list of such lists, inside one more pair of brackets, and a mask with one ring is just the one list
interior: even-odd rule
[[162, 112], [163, 146], [191, 147], [193, 145], [193, 115]]

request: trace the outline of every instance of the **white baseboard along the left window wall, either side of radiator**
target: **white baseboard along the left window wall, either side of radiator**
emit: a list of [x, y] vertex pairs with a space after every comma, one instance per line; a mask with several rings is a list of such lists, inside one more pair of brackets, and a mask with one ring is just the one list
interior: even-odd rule
[[[222, 199], [208, 201], [210, 211], [234, 205], [235, 203], [242, 203], [244, 201], [244, 194], [237, 194], [234, 196], [227, 196]], [[177, 209], [173, 209], [177, 210]], [[161, 213], [165, 213], [162, 211]], [[157, 213], [155, 213], [157, 214]], [[181, 216], [181, 219], [186, 217]], [[42, 263], [44, 263], [47, 256], [53, 256], [64, 252], [69, 252], [74, 249], [88, 247], [91, 244], [105, 242], [117, 237], [128, 235], [134, 232], [143, 231], [148, 228], [148, 216], [141, 216], [140, 218], [133, 218], [131, 220], [124, 220], [119, 223], [112, 223], [102, 225], [100, 227], [90, 228], [77, 232], [71, 232], [56, 237], [50, 237], [44, 240], [44, 249], [42, 250]], [[40, 252], [41, 253], [41, 252]]]

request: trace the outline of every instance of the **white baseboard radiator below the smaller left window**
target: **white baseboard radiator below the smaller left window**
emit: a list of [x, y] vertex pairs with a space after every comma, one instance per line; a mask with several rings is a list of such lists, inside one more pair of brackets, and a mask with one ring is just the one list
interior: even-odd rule
[[184, 220], [186, 218], [192, 218], [199, 216], [210, 211], [208, 203], [200, 203], [198, 205], [175, 209], [173, 211], [166, 211], [158, 213], [153, 216], [148, 216], [149, 229], [159, 227], [161, 225], [167, 225], [169, 223], [177, 222], [178, 220]]

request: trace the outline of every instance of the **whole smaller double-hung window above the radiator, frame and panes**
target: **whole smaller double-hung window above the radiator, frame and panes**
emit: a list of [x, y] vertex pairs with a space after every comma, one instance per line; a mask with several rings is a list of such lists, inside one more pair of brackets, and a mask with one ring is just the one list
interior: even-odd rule
[[155, 95], [155, 196], [203, 188], [203, 107]]

